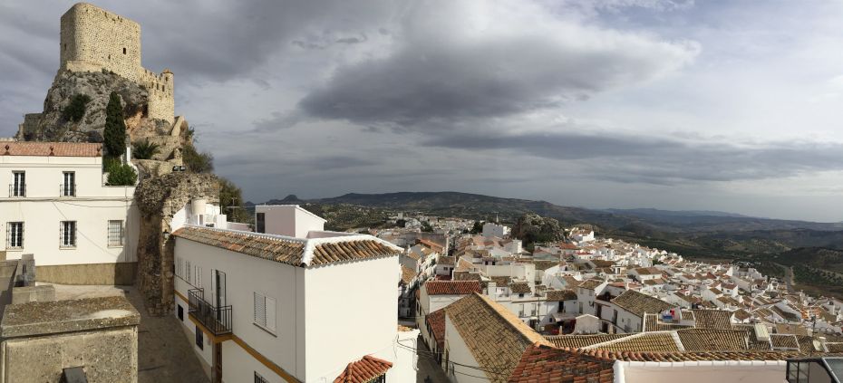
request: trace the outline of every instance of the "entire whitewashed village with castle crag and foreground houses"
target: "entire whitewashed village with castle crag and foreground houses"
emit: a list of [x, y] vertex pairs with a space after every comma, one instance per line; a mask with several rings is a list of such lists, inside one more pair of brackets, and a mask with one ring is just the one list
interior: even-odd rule
[[0, 142], [0, 383], [834, 381], [843, 302], [740, 264], [587, 225], [238, 219], [140, 24], [60, 24], [44, 111]]

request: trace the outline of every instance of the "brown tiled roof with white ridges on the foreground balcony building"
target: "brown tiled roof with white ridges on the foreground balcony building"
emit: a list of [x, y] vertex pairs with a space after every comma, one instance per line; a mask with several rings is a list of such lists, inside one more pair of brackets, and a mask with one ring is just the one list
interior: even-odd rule
[[371, 235], [302, 239], [199, 226], [184, 226], [172, 235], [199, 244], [208, 244], [240, 254], [303, 267], [401, 253], [401, 248], [387, 244]]

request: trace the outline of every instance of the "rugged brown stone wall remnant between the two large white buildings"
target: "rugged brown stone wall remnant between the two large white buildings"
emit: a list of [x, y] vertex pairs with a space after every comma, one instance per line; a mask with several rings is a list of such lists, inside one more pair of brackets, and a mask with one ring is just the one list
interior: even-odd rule
[[[173, 215], [194, 198], [219, 203], [219, 180], [212, 174], [170, 173], [145, 179], [135, 190], [140, 206], [137, 284], [147, 311], [173, 311]], [[165, 235], [166, 233], [166, 235]]]

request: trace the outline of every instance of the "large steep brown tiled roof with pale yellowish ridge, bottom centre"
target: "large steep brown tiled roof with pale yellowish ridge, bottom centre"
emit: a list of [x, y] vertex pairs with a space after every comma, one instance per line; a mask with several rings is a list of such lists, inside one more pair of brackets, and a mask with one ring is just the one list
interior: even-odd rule
[[512, 311], [481, 294], [472, 294], [451, 303], [445, 315], [481, 369], [492, 382], [505, 382], [515, 369], [524, 349], [550, 342], [519, 320]]

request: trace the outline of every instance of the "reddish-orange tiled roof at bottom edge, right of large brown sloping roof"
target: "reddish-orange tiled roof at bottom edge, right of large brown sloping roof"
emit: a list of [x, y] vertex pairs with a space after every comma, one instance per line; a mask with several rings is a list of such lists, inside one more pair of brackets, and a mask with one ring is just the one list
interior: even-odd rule
[[587, 355], [531, 345], [524, 350], [509, 383], [611, 383], [615, 380], [614, 362]]

